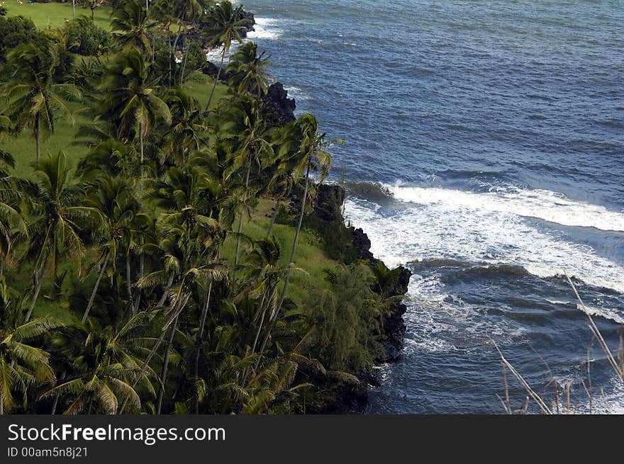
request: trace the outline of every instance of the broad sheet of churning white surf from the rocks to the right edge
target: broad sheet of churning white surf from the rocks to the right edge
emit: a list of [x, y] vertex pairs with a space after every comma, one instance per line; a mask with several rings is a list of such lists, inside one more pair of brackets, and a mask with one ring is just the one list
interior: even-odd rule
[[[415, 204], [391, 215], [382, 215], [379, 205], [355, 198], [345, 205], [352, 224], [369, 235], [372, 253], [388, 266], [421, 259], [510, 264], [542, 278], [568, 273], [590, 285], [624, 293], [623, 266], [598, 256], [587, 245], [532, 225], [520, 214], [528, 210], [520, 197], [504, 200], [498, 193], [489, 196], [438, 188], [389, 189], [395, 198]], [[574, 208], [581, 206], [574, 203]], [[594, 208], [599, 207], [586, 205], [589, 211]], [[613, 213], [611, 219], [596, 214], [591, 223], [615, 226], [618, 214]], [[564, 221], [565, 215], [559, 216]]]

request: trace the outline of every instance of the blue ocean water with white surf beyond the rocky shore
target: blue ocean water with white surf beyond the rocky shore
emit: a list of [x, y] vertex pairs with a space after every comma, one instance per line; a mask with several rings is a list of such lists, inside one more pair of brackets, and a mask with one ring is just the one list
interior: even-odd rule
[[[592, 342], [624, 322], [620, 0], [249, 0], [272, 74], [330, 137], [346, 211], [414, 275], [368, 412], [501, 413], [494, 339], [553, 409], [624, 412]], [[586, 308], [564, 274], [573, 276]], [[587, 360], [590, 360], [589, 375]], [[513, 407], [525, 393], [510, 378]], [[585, 386], [584, 386], [585, 385]]]

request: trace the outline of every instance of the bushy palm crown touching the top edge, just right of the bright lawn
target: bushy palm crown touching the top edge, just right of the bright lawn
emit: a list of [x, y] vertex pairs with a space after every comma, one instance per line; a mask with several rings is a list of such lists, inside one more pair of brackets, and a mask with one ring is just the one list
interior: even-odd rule
[[152, 20], [149, 11], [143, 9], [138, 0], [120, 0], [113, 5], [112, 15], [111, 28], [119, 31], [117, 45], [124, 51], [139, 50], [147, 60], [152, 60], [152, 30], [157, 22]]

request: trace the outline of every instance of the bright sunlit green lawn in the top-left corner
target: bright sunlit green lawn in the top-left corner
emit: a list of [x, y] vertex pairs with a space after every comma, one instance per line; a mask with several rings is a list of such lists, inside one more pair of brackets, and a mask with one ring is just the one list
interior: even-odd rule
[[[78, 3], [78, 2], [76, 2]], [[65, 4], [52, 2], [49, 4], [29, 4], [28, 0], [23, 0], [18, 4], [16, 0], [6, 0], [4, 6], [8, 11], [7, 16], [24, 16], [30, 18], [40, 29], [60, 28], [65, 24], [65, 20], [72, 19], [72, 2]], [[82, 8], [76, 4], [76, 16], [87, 16], [91, 18], [91, 10]], [[98, 26], [111, 30], [111, 8], [101, 6], [94, 12], [94, 20]]]

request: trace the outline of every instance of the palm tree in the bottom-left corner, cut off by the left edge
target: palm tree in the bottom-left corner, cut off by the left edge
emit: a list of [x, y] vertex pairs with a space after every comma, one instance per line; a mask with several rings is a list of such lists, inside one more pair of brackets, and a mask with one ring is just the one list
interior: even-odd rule
[[19, 314], [6, 285], [0, 283], [0, 415], [15, 406], [14, 392], [21, 392], [26, 404], [29, 387], [55, 382], [50, 354], [28, 342], [62, 324], [48, 317], [22, 323]]

